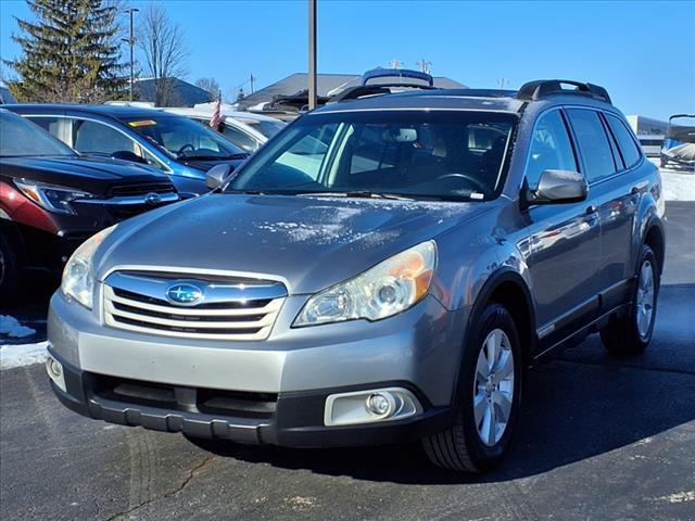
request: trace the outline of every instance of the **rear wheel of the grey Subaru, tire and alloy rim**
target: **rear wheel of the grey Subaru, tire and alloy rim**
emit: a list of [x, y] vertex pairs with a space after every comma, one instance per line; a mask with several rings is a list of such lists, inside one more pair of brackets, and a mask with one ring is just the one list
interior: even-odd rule
[[611, 320], [601, 330], [601, 341], [606, 350], [621, 354], [642, 353], [646, 350], [654, 332], [659, 280], [660, 269], [656, 255], [644, 244], [630, 313], [624, 318]]

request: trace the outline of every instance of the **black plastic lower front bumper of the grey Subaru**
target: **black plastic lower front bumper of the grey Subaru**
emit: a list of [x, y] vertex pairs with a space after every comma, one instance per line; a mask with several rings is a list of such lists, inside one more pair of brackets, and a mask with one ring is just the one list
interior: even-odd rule
[[[102, 377], [71, 367], [52, 351], [51, 356], [63, 366], [66, 391], [53, 382], [51, 386], [67, 408], [88, 418], [110, 423], [139, 425], [163, 432], [181, 432], [191, 437], [287, 447], [382, 445], [417, 440], [441, 431], [451, 422], [448, 407], [432, 407], [420, 394], [419, 398], [427, 405], [425, 412], [415, 418], [369, 425], [324, 425], [323, 411], [327, 396], [337, 392], [349, 392], [355, 390], [354, 387], [280, 393], [273, 397], [275, 407], [271, 412], [255, 415], [242, 410], [237, 414], [201, 411], [201, 402], [194, 396], [202, 395], [204, 391], [191, 387], [176, 387], [176, 403], [167, 404], [165, 407], [148, 405], [144, 403], [147, 401], [142, 399], [116, 397], [117, 395], [103, 385]], [[378, 386], [394, 384], [404, 385], [404, 382], [383, 382]]]

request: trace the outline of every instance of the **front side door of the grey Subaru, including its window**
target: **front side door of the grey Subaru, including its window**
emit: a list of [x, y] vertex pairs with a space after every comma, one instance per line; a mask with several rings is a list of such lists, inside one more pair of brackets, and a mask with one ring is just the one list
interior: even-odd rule
[[[527, 162], [530, 190], [546, 169], [582, 171], [559, 109], [539, 117]], [[590, 200], [531, 205], [527, 209], [531, 244], [529, 272], [533, 284], [541, 347], [551, 346], [591, 321], [598, 307], [601, 223]]]

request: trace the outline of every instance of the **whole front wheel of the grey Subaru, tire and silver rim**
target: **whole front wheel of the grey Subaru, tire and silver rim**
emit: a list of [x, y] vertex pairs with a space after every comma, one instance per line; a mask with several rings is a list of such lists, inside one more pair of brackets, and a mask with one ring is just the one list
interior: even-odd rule
[[521, 345], [511, 315], [489, 304], [477, 322], [464, 351], [454, 423], [422, 440], [434, 465], [465, 472], [500, 462], [521, 401]]

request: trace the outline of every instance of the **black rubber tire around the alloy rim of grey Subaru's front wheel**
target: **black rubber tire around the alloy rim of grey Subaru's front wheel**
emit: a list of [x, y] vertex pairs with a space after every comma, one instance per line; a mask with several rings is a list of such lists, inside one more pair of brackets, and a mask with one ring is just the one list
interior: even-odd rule
[[[439, 467], [464, 472], [482, 472], [493, 468], [502, 459], [514, 431], [521, 402], [521, 344], [517, 327], [509, 312], [500, 304], [489, 304], [476, 320], [471, 331], [471, 341], [464, 351], [457, 397], [455, 399], [455, 419], [445, 431], [422, 439], [422, 446], [430, 460]], [[483, 350], [488, 335], [501, 329], [507, 336], [514, 361], [514, 390], [509, 415], [502, 436], [494, 444], [485, 444], [479, 434], [473, 411], [476, 373], [478, 357]], [[478, 391], [480, 392], [480, 391]]]

